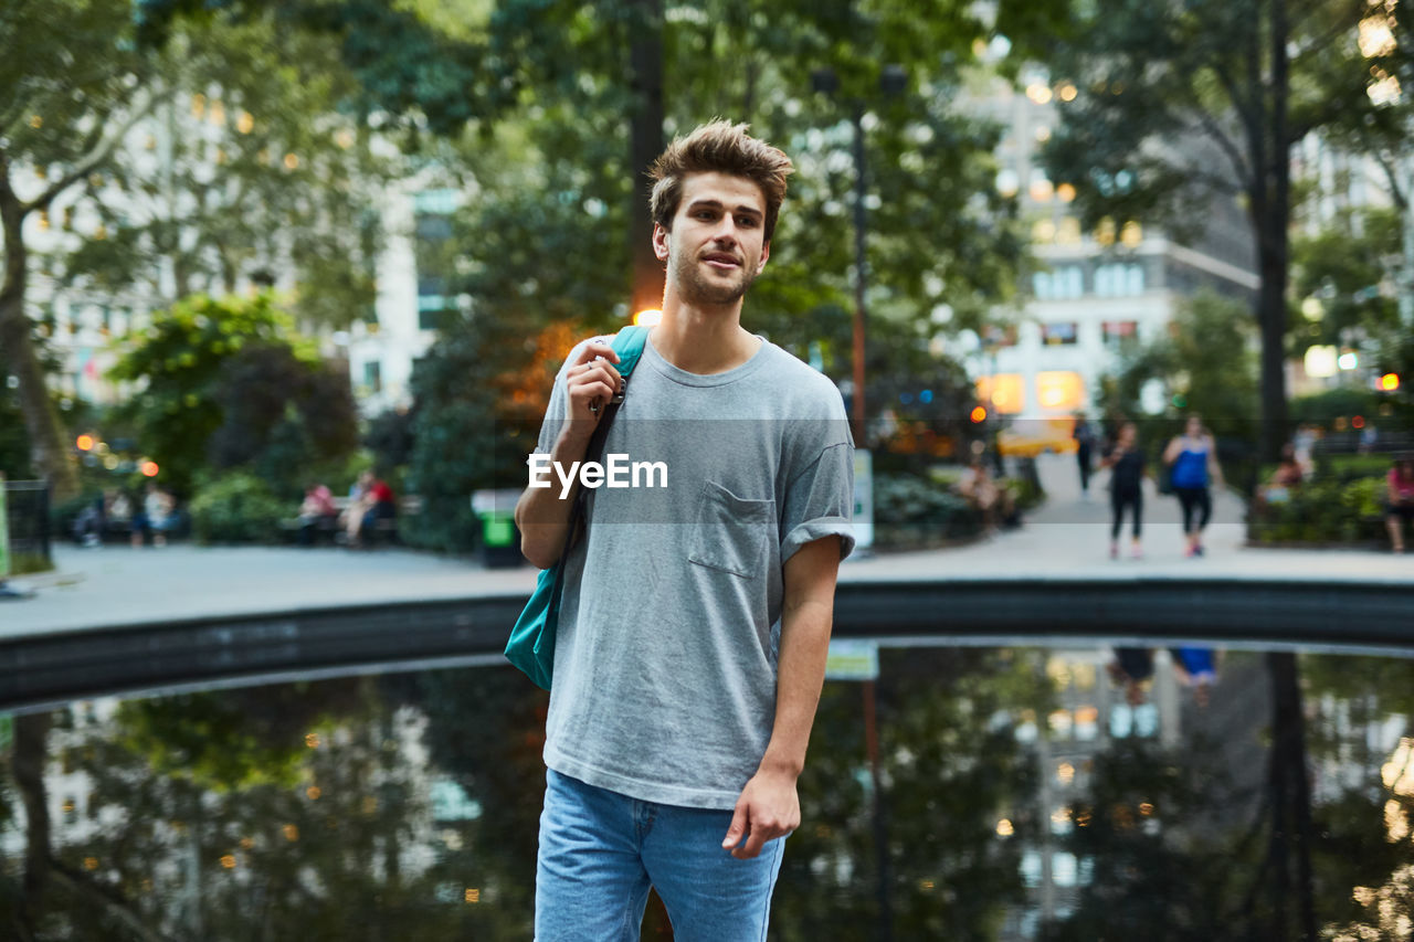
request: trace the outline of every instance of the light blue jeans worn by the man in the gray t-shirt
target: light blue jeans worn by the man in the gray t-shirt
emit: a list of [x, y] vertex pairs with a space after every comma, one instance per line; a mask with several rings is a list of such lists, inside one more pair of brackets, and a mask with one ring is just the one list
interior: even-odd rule
[[730, 810], [642, 802], [549, 769], [534, 878], [537, 942], [631, 942], [648, 888], [677, 942], [761, 942], [785, 837], [723, 850]]

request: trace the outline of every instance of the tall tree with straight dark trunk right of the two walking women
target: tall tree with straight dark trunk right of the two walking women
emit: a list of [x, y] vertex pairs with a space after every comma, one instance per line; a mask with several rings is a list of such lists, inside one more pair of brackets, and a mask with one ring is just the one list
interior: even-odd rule
[[1373, 110], [1355, 37], [1367, 4], [1322, 0], [1060, 1], [1073, 25], [1028, 33], [1021, 4], [998, 28], [1019, 55], [1077, 88], [1045, 150], [1052, 180], [1076, 187], [1087, 225], [1162, 222], [1192, 233], [1216, 199], [1240, 197], [1257, 250], [1266, 460], [1287, 431], [1284, 359], [1291, 263], [1291, 150]]

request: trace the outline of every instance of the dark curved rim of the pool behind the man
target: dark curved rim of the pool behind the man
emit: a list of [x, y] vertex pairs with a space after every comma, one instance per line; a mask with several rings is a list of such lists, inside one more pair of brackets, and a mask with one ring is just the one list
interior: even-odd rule
[[[120, 692], [339, 676], [368, 666], [505, 663], [526, 593], [0, 635], [0, 710]], [[1058, 604], [1065, 598], [1065, 605]], [[841, 583], [834, 635], [892, 646], [1186, 641], [1414, 656], [1414, 581], [1147, 578]]]

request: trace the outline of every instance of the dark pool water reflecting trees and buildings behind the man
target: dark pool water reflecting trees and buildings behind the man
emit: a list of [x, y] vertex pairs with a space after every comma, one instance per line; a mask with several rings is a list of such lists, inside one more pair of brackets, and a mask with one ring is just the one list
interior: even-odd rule
[[[772, 938], [1407, 938], [1414, 663], [1144, 653], [884, 651], [880, 818], [829, 683]], [[17, 717], [0, 935], [529, 938], [543, 723], [499, 668]]]

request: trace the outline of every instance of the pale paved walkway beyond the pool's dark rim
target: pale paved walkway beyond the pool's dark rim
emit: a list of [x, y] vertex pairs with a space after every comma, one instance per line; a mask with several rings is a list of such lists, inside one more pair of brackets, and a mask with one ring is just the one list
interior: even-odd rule
[[[1038, 461], [1046, 504], [1024, 528], [970, 546], [850, 560], [844, 581], [878, 580], [1414, 580], [1414, 556], [1359, 550], [1246, 547], [1243, 505], [1216, 499], [1208, 554], [1184, 557], [1178, 501], [1145, 492], [1143, 560], [1109, 559], [1106, 475], [1079, 491], [1075, 460]], [[1128, 530], [1121, 546], [1128, 549]], [[529, 593], [534, 570], [486, 570], [471, 560], [407, 550], [349, 552], [168, 546], [55, 547], [58, 573], [30, 581], [34, 598], [0, 601], [0, 638], [153, 621], [389, 601]], [[1414, 617], [1414, 614], [1411, 614]]]

